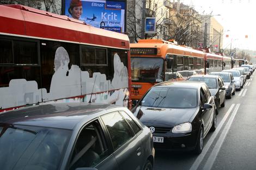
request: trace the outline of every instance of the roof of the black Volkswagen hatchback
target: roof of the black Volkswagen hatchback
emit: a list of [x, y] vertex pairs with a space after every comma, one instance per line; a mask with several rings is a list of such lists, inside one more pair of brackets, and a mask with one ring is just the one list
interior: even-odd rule
[[192, 81], [164, 81], [159, 84], [154, 85], [153, 87], [180, 87], [180, 88], [188, 88], [188, 89], [198, 89], [202, 86], [202, 82], [192, 82]]

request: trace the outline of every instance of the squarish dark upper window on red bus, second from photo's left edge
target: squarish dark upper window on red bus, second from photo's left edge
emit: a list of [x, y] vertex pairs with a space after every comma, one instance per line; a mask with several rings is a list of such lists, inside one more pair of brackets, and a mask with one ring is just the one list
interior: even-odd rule
[[13, 41], [15, 64], [39, 64], [38, 43], [32, 41]]

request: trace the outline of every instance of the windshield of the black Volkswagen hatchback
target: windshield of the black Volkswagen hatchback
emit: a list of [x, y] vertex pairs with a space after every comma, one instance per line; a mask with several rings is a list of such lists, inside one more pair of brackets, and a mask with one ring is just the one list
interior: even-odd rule
[[154, 108], [195, 108], [197, 106], [197, 90], [153, 87], [142, 99], [141, 105]]

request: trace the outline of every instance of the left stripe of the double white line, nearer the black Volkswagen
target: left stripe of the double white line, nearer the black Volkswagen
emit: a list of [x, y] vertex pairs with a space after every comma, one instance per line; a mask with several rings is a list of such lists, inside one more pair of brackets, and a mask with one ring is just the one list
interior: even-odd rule
[[234, 108], [234, 106], [235, 106], [235, 104], [231, 104], [228, 111], [225, 113], [225, 116], [222, 118], [221, 122], [217, 125], [217, 128], [215, 129], [214, 133], [212, 133], [211, 137], [209, 138], [209, 140], [205, 144], [202, 153], [197, 156], [197, 159], [194, 161], [190, 170], [196, 170], [199, 167], [200, 163], [203, 161], [206, 153], [208, 152], [209, 148], [211, 147], [212, 142], [214, 142], [216, 136], [220, 132], [223, 124], [225, 123], [226, 119], [228, 118], [228, 116], [229, 116], [231, 110]]

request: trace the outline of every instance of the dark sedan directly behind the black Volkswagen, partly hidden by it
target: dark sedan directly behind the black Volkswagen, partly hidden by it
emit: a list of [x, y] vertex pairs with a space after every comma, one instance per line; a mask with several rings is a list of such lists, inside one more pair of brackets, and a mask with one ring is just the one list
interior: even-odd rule
[[225, 85], [218, 75], [192, 75], [188, 81], [200, 81], [206, 83], [212, 96], [215, 96], [216, 113], [218, 108], [225, 106]]

